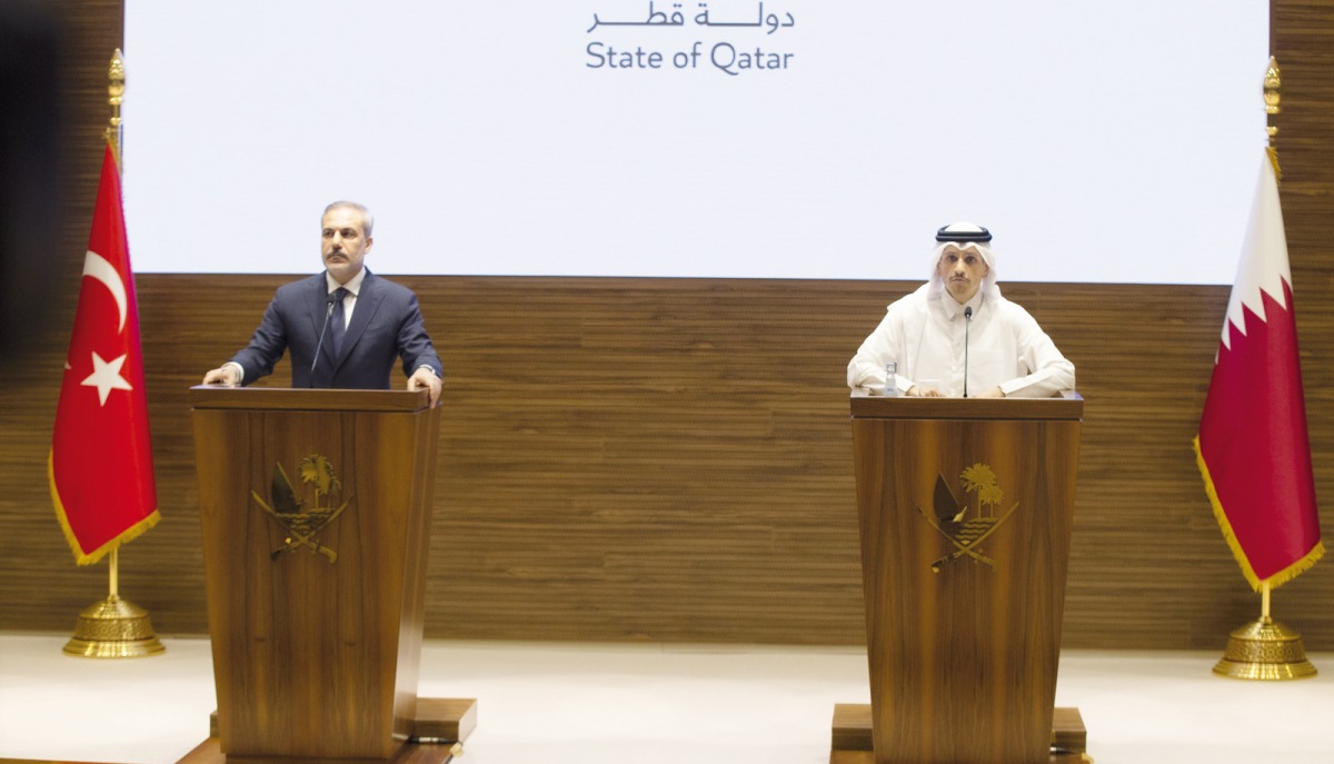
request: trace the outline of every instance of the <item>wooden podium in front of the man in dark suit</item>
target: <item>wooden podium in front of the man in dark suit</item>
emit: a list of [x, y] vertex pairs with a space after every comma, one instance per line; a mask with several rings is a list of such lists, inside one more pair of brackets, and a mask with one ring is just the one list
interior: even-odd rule
[[440, 409], [390, 390], [189, 402], [217, 713], [181, 761], [447, 761], [476, 703], [416, 696]]

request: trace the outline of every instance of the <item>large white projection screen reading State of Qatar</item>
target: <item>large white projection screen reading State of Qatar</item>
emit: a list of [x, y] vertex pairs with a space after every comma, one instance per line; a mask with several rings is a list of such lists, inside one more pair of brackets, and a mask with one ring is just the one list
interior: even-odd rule
[[1257, 0], [127, 0], [140, 272], [1231, 283]]

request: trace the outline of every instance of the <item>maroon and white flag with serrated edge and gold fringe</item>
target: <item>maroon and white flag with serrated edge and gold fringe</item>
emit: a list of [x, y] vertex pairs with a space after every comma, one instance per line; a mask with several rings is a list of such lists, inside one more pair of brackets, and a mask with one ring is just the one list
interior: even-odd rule
[[1325, 554], [1275, 170], [1266, 156], [1195, 438], [1214, 516], [1257, 590]]

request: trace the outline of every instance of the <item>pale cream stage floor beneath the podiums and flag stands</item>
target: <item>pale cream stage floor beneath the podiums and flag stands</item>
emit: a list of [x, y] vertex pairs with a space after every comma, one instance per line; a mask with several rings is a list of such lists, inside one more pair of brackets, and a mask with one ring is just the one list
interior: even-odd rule
[[[208, 735], [208, 641], [92, 660], [0, 634], [0, 759], [173, 764]], [[1315, 679], [1215, 677], [1218, 653], [1066, 652], [1098, 764], [1334, 761], [1334, 654]], [[826, 764], [836, 703], [868, 703], [864, 650], [427, 641], [423, 697], [478, 699], [464, 764]]]

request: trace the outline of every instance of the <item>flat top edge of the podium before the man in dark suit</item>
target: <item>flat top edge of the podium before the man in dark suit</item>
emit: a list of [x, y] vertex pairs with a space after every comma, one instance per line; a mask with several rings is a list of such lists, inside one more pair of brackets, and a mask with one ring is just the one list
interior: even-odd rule
[[189, 389], [189, 406], [191, 409], [412, 414], [430, 409], [431, 398], [426, 390], [308, 390], [196, 385]]

